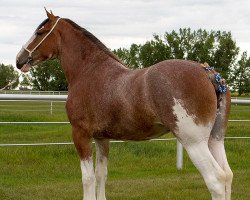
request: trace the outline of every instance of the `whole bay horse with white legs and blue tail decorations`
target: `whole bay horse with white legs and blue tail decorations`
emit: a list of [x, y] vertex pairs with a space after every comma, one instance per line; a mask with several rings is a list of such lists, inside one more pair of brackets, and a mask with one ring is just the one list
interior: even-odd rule
[[168, 131], [186, 149], [212, 199], [231, 199], [233, 173], [224, 148], [230, 92], [218, 94], [209, 78], [214, 70], [185, 60], [129, 69], [86, 29], [46, 13], [16, 65], [27, 72], [45, 60], [60, 60], [68, 81], [66, 110], [80, 157], [84, 200], [106, 200], [110, 139], [148, 140]]

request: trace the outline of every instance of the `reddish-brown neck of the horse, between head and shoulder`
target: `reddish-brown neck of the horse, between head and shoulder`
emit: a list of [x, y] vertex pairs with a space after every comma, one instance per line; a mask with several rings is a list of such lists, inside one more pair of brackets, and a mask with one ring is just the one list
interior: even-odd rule
[[124, 70], [122, 64], [77, 31], [65, 31], [62, 36], [60, 61], [69, 85], [77, 81], [79, 76], [88, 76], [97, 71], [101, 73], [102, 70], [107, 70], [107, 67], [108, 71], [112, 71], [111, 68], [114, 71]]

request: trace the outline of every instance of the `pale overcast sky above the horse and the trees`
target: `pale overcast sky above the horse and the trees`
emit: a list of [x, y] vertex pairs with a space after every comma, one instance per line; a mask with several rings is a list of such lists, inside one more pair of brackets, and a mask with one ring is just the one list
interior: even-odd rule
[[231, 31], [240, 50], [250, 55], [249, 0], [0, 0], [0, 5], [0, 63], [13, 66], [46, 18], [44, 7], [86, 28], [110, 49], [190, 27]]

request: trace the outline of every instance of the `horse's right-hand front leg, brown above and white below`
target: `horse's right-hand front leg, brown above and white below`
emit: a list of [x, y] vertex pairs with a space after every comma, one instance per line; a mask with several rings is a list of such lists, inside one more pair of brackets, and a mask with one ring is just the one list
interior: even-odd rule
[[96, 144], [96, 182], [97, 182], [97, 200], [106, 200], [105, 183], [107, 180], [107, 164], [109, 154], [109, 140], [95, 139]]

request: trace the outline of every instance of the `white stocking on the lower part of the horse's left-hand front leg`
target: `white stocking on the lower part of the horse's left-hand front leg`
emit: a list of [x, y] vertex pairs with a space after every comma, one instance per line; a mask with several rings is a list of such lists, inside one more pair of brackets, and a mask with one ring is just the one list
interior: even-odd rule
[[93, 160], [81, 160], [84, 200], [96, 200]]

